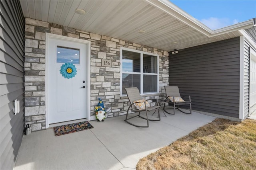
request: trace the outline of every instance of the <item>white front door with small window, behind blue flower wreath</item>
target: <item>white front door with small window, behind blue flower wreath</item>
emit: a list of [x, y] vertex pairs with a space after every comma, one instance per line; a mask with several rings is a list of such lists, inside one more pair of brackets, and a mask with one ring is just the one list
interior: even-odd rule
[[[88, 44], [49, 37], [48, 39], [48, 123], [87, 118], [86, 58]], [[72, 63], [73, 77], [64, 77], [61, 66]], [[66, 75], [75, 72], [66, 69]], [[66, 72], [67, 71], [67, 72]]]

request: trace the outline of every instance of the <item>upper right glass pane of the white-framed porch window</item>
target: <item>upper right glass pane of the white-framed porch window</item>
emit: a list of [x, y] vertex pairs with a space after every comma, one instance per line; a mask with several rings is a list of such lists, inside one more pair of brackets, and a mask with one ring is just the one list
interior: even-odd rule
[[143, 72], [157, 73], [157, 57], [143, 54]]

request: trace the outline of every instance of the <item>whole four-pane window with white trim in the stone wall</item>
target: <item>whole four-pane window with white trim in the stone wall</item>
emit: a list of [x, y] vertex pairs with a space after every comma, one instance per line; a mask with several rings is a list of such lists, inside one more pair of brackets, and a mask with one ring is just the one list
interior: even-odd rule
[[158, 93], [158, 55], [127, 48], [121, 48], [120, 55], [121, 96], [126, 95], [126, 87], [137, 87], [140, 94]]

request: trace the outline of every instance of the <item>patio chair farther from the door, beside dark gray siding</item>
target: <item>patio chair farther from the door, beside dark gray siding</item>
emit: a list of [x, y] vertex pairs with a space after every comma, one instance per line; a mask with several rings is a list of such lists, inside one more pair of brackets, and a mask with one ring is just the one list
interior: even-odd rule
[[[185, 101], [182, 99], [182, 97], [184, 97], [184, 96], [182, 96], [182, 97], [180, 96], [180, 91], [179, 91], [178, 86], [164, 86], [164, 88], [165, 88], [165, 92], [166, 92], [166, 96], [167, 96], [166, 100], [169, 101], [169, 104], [173, 105], [173, 114], [174, 115], [175, 115], [176, 106], [177, 106], [177, 109], [179, 111], [181, 111], [182, 113], [186, 113], [186, 114], [192, 113], [190, 96], [188, 96], [189, 101]], [[179, 108], [180, 105], [190, 105], [190, 113], [180, 110], [180, 108]], [[165, 109], [165, 108], [163, 108], [163, 109]]]

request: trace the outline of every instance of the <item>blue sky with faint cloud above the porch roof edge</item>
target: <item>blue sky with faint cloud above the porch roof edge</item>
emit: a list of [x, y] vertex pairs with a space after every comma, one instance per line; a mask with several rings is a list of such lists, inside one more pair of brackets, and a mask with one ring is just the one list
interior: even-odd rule
[[212, 30], [256, 18], [256, 0], [170, 0]]

